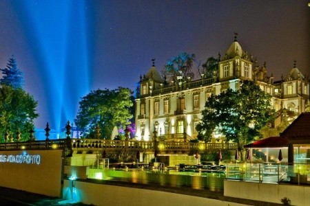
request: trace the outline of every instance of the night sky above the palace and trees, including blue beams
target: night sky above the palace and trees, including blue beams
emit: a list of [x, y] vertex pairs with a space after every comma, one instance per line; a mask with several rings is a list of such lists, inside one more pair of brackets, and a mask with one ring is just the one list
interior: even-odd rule
[[[196, 62], [234, 41], [287, 76], [310, 74], [309, 1], [0, 1], [0, 67], [13, 54], [38, 101], [37, 128], [72, 122], [82, 96], [129, 87], [180, 52]], [[196, 66], [194, 66], [196, 68]]]

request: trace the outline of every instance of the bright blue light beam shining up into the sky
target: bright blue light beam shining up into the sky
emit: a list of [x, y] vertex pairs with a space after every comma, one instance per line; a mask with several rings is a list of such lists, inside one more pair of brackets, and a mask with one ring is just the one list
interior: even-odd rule
[[60, 132], [68, 120], [73, 122], [80, 98], [90, 89], [85, 1], [13, 4], [44, 82], [41, 92], [48, 102], [48, 114], [52, 115], [45, 122]]

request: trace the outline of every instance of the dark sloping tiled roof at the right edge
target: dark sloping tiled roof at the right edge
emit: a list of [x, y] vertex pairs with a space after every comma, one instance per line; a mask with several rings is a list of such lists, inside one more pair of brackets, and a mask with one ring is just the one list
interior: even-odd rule
[[309, 137], [310, 140], [310, 113], [301, 113], [281, 134], [281, 137]]

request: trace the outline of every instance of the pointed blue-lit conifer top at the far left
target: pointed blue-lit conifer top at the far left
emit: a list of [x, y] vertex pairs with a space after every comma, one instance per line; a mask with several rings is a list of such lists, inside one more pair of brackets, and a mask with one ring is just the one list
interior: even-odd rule
[[0, 69], [3, 77], [0, 80], [1, 85], [10, 86], [13, 89], [23, 89], [23, 72], [17, 67], [17, 61], [12, 55], [6, 68]]

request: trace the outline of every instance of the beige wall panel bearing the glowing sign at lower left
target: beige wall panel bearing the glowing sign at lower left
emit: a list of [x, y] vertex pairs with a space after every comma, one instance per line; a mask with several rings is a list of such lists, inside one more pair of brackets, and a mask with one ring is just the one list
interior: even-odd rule
[[61, 196], [62, 150], [0, 151], [0, 186]]

